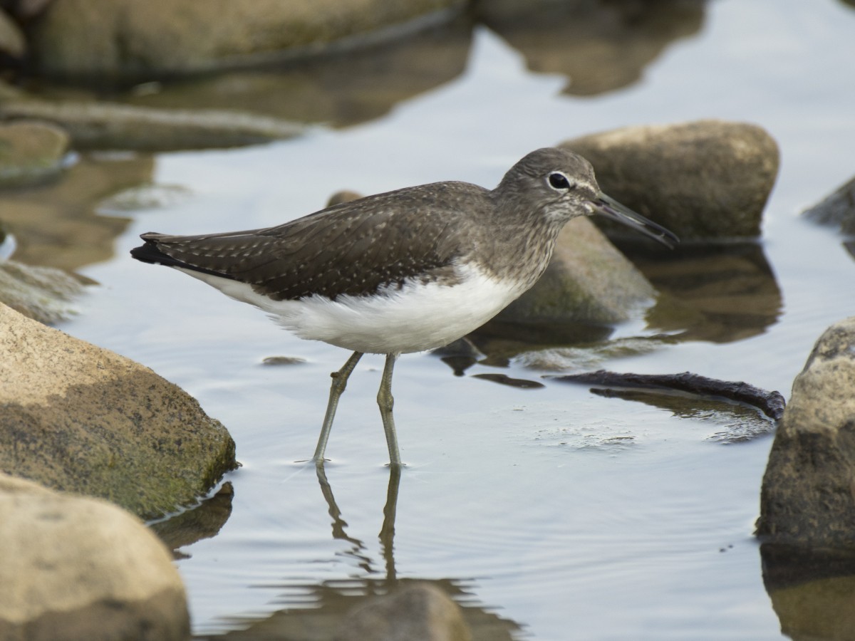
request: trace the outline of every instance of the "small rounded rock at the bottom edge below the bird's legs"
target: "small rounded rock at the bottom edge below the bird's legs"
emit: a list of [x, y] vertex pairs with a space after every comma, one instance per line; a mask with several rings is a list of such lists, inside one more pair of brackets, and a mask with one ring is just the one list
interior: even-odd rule
[[457, 603], [433, 585], [415, 584], [353, 610], [335, 641], [470, 641]]

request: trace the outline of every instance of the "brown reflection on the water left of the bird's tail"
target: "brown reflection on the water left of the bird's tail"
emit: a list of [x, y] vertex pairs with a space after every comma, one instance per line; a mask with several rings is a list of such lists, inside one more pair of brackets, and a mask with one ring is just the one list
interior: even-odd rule
[[0, 217], [17, 241], [15, 260], [68, 271], [106, 261], [128, 221], [97, 215], [97, 203], [150, 182], [153, 166], [149, 156], [84, 157], [54, 185], [0, 193]]

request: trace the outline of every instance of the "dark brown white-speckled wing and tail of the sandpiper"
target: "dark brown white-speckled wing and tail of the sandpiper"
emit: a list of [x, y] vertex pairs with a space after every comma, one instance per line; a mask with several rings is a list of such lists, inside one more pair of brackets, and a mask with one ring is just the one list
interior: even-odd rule
[[[455, 280], [467, 252], [461, 208], [486, 208], [488, 192], [435, 183], [342, 203], [284, 225], [199, 236], [144, 233], [132, 250], [144, 262], [238, 280], [272, 300], [319, 294], [364, 296], [409, 279]], [[463, 205], [463, 203], [467, 203]], [[464, 234], [465, 236], [465, 234]]]

